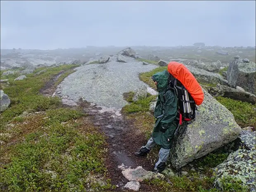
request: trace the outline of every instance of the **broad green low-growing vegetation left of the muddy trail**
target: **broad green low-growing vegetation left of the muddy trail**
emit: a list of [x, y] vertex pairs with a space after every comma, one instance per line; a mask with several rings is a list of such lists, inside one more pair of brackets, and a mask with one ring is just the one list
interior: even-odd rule
[[79, 109], [63, 108], [57, 97], [39, 90], [64, 70], [55, 86], [74, 65], [47, 69], [43, 74], [4, 87], [11, 105], [0, 114], [1, 191], [110, 190], [104, 157], [105, 137]]

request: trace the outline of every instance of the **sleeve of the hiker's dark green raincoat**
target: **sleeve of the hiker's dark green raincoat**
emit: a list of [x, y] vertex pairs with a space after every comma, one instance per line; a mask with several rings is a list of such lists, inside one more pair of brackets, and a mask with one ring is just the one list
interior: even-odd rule
[[171, 126], [177, 115], [177, 97], [173, 91], [166, 91], [166, 101], [164, 108], [164, 117], [161, 120], [161, 126], [165, 129]]

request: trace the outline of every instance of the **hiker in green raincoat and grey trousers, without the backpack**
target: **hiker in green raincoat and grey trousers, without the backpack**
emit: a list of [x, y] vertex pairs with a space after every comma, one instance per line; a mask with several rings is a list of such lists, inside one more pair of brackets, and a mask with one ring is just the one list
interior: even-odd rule
[[146, 156], [156, 145], [160, 145], [159, 160], [154, 166], [154, 172], [161, 173], [166, 168], [166, 161], [169, 157], [175, 129], [179, 124], [177, 117], [177, 96], [174, 91], [168, 89], [169, 73], [167, 70], [156, 73], [152, 76], [157, 91], [159, 92], [154, 110], [156, 124], [152, 137], [142, 146], [136, 156]]

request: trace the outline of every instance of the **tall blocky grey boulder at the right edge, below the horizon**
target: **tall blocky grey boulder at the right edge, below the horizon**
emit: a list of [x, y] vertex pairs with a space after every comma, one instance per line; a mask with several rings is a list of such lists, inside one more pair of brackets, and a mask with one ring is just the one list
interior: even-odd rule
[[243, 62], [236, 56], [228, 67], [227, 80], [231, 87], [242, 87], [245, 91], [255, 94], [256, 64]]

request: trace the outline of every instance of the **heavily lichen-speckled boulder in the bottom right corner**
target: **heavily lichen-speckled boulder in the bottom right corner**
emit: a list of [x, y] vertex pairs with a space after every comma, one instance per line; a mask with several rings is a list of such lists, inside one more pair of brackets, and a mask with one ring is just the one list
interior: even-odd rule
[[241, 181], [242, 186], [249, 187], [249, 191], [255, 192], [255, 169], [256, 169], [256, 150], [239, 149], [232, 152], [228, 159], [219, 164], [214, 169], [216, 176], [213, 185], [214, 187], [224, 190], [223, 183], [227, 178], [232, 178]]

